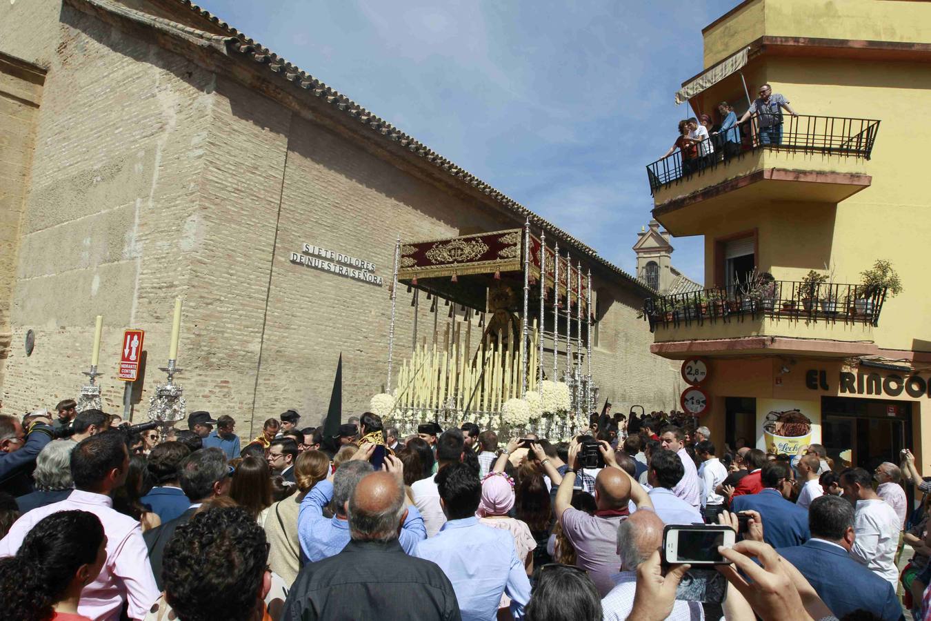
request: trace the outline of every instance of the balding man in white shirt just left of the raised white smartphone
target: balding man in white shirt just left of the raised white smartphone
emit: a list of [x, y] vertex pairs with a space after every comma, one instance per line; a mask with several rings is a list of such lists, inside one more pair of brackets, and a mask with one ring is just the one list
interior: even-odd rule
[[[601, 600], [604, 621], [624, 621], [634, 605], [637, 591], [637, 568], [650, 558], [663, 543], [663, 520], [653, 511], [638, 511], [617, 527], [617, 556], [621, 560], [621, 573], [614, 574], [614, 588]], [[670, 619], [704, 619], [701, 604], [697, 601], [677, 600]]]

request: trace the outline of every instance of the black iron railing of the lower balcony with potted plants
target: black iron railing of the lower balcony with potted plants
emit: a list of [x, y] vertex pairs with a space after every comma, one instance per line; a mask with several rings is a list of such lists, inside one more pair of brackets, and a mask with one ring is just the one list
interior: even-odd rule
[[706, 322], [774, 317], [793, 321], [879, 325], [885, 289], [862, 285], [816, 284], [797, 280], [764, 280], [735, 289], [706, 289], [647, 298], [643, 316], [656, 326], [678, 328]]

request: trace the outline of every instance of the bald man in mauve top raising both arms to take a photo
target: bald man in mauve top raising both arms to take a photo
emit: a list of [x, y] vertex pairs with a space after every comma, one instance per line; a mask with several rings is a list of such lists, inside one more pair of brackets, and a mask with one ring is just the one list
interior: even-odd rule
[[573, 484], [578, 469], [578, 453], [581, 445], [573, 440], [569, 447], [569, 470], [562, 475], [560, 489], [556, 493], [556, 518], [560, 520], [562, 532], [575, 547], [575, 564], [588, 572], [601, 597], [614, 587], [612, 574], [617, 573], [620, 557], [617, 554], [617, 527], [627, 520], [627, 503], [631, 500], [638, 509], [653, 510], [650, 496], [635, 481], [617, 466], [614, 449], [601, 440], [599, 449], [607, 467], [601, 469], [595, 479], [595, 503], [598, 510], [589, 516], [585, 511], [573, 508]]

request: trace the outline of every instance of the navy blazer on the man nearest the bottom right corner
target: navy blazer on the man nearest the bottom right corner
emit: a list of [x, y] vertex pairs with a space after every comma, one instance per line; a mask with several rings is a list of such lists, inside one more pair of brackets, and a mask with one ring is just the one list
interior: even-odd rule
[[776, 552], [805, 576], [834, 616], [843, 618], [862, 609], [884, 621], [905, 618], [892, 585], [851, 559], [842, 548], [809, 539], [802, 546], [782, 547]]

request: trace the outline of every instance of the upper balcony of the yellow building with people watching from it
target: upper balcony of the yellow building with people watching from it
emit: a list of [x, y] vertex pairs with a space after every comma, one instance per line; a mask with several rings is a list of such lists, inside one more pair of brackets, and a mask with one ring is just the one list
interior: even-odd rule
[[[740, 144], [728, 145], [719, 134], [697, 143], [694, 158], [683, 160], [676, 151], [646, 167], [654, 217], [673, 235], [700, 235], [709, 216], [725, 216], [748, 204], [839, 203], [870, 185], [865, 162], [879, 123], [784, 115], [781, 136], [774, 137], [761, 131], [758, 117], [751, 117], [739, 126]], [[702, 209], [685, 209], [697, 203]]]

